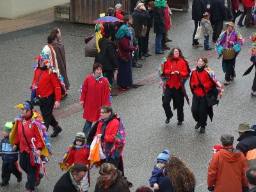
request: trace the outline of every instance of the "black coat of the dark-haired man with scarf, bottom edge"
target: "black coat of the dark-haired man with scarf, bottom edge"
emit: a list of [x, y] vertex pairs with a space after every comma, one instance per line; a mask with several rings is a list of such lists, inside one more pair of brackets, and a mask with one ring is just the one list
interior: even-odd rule
[[77, 192], [76, 187], [72, 184], [69, 172], [64, 173], [56, 182], [53, 192]]

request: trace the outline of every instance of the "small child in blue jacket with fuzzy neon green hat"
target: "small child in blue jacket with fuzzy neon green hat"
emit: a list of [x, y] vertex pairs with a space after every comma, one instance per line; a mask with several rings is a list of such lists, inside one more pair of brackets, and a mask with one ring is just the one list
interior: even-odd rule
[[4, 138], [1, 140], [0, 144], [0, 156], [2, 156], [2, 182], [1, 186], [6, 186], [9, 184], [11, 178], [11, 173], [17, 177], [17, 182], [22, 180], [22, 173], [19, 170], [19, 165], [17, 163], [19, 157], [19, 150], [13, 150], [10, 144], [9, 136], [12, 132], [13, 124], [12, 122], [6, 122], [4, 125]]

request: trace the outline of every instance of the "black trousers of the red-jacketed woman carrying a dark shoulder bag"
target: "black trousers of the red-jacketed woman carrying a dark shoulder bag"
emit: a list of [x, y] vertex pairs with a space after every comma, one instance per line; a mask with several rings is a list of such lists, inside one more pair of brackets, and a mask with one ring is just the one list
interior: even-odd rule
[[191, 111], [193, 118], [201, 127], [207, 125], [207, 109], [206, 98], [193, 95]]

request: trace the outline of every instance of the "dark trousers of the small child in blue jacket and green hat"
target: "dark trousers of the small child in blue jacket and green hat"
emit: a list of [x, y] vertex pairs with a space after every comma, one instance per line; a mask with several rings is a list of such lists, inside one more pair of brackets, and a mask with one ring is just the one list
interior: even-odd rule
[[2, 163], [2, 180], [8, 182], [11, 178], [11, 174], [15, 175], [17, 179], [21, 177], [19, 165], [17, 162]]

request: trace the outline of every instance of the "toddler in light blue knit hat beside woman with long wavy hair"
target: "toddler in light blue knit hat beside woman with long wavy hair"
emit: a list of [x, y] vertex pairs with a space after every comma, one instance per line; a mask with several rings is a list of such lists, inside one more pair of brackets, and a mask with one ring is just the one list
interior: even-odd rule
[[159, 189], [159, 181], [167, 175], [166, 164], [169, 159], [169, 150], [164, 150], [157, 157], [157, 164], [154, 166], [152, 171], [152, 176], [149, 179], [150, 187], [154, 189]]

